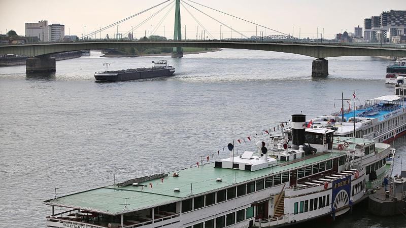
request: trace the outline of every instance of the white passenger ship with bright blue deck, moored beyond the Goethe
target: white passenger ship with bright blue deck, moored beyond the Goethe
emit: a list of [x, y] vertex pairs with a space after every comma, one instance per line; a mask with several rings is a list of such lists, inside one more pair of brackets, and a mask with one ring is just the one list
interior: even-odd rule
[[[350, 102], [354, 104], [353, 100]], [[355, 110], [345, 110], [344, 107], [341, 110], [344, 111], [313, 118], [307, 124], [311, 122], [313, 128], [333, 129], [334, 136], [353, 137], [355, 132], [357, 138], [378, 142], [393, 141], [406, 132], [406, 105], [404, 97], [399, 94], [366, 100], [364, 105], [356, 106]]]

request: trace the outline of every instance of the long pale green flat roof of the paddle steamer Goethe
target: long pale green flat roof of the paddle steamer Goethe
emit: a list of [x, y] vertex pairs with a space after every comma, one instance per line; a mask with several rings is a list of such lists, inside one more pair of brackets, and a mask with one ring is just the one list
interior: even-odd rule
[[[342, 156], [343, 153], [317, 153], [303, 160], [278, 161], [278, 165], [252, 172], [214, 168], [214, 163], [208, 163], [199, 167], [191, 167], [178, 171], [179, 177], [173, 177], [172, 173], [170, 173], [163, 181], [161, 178], [158, 178], [140, 182], [139, 184], [145, 185], [144, 187], [132, 185], [118, 187], [110, 185], [47, 200], [45, 204], [118, 215], [218, 191], [219, 189], [259, 179], [269, 174], [282, 173], [290, 169]], [[217, 178], [221, 178], [222, 181], [217, 182]], [[152, 184], [152, 188], [150, 184]], [[175, 193], [174, 188], [179, 188], [180, 192]]]

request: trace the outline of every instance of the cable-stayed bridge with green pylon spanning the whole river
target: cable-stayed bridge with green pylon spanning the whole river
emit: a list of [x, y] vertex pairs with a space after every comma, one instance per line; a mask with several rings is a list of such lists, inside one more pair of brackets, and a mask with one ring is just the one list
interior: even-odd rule
[[[196, 31], [196, 39], [186, 39], [186, 34], [182, 36], [182, 24], [181, 24], [181, 7], [184, 9], [191, 18], [200, 26], [201, 35]], [[174, 23], [174, 36], [173, 40], [167, 41], [152, 41], [149, 40], [152, 34], [156, 33], [157, 29], [162, 26], [162, 23], [170, 15], [169, 13], [175, 9], [175, 23]], [[260, 32], [257, 36], [257, 31], [255, 36], [248, 36], [244, 32], [240, 32], [232, 26], [227, 25], [218, 18], [212, 16], [213, 14], [207, 13], [202, 9], [209, 10], [211, 12], [217, 12], [218, 14], [225, 15], [226, 17], [231, 17], [233, 19], [241, 21], [241, 23], [248, 23], [255, 25], [256, 29], [258, 27], [267, 30], [268, 33], [272, 32], [272, 35], [266, 35], [264, 32]], [[132, 18], [138, 17], [150, 12], [157, 10], [151, 16], [142, 20], [139, 24], [128, 29], [127, 32], [121, 35], [127, 35], [132, 33], [133, 29], [140, 28], [149, 20], [157, 16], [159, 13], [165, 13], [159, 22], [154, 26], [154, 29], [149, 31], [148, 37], [144, 37], [143, 41], [125, 41], [119, 39], [118, 32], [116, 39], [98, 39], [96, 37], [101, 37], [101, 32], [108, 29], [114, 28], [119, 24], [128, 21]], [[191, 11], [195, 13], [192, 13]], [[196, 12], [200, 15], [205, 15], [211, 20], [215, 21], [220, 25], [220, 34], [215, 37], [212, 32], [206, 29], [206, 26], [198, 20], [195, 16]], [[185, 25], [186, 27], [186, 25]], [[222, 27], [230, 32], [230, 36], [224, 37], [224, 30], [221, 31]], [[205, 35], [203, 36], [203, 31]], [[184, 30], [186, 32], [186, 30]], [[207, 34], [206, 34], [207, 33]], [[232, 33], [238, 34], [239, 38], [233, 37]], [[293, 33], [293, 32], [292, 32]], [[241, 37], [241, 38], [240, 38]], [[195, 47], [195, 48], [231, 48], [231, 49], [249, 49], [249, 50], [265, 50], [265, 51], [275, 51], [275, 52], [285, 52], [293, 53], [299, 55], [306, 55], [316, 58], [313, 61], [312, 75], [313, 76], [326, 76], [328, 75], [328, 61], [325, 59], [327, 57], [336, 56], [406, 56], [406, 49], [396, 48], [388, 45], [370, 45], [370, 44], [343, 44], [343, 43], [303, 43], [299, 42], [297, 37], [290, 34], [269, 28], [265, 25], [260, 25], [258, 23], [249, 21], [247, 19], [233, 16], [231, 14], [225, 13], [223, 11], [214, 9], [209, 6], [205, 6], [192, 0], [166, 0], [160, 4], [150, 7], [149, 9], [143, 10], [139, 13], [133, 14], [122, 20], [116, 21], [104, 27], [100, 27], [94, 32], [82, 35], [79, 42], [73, 43], [46, 43], [46, 44], [27, 44], [27, 45], [6, 45], [0, 46], [0, 55], [6, 54], [19, 54], [25, 55], [29, 58], [26, 62], [27, 72], [41, 72], [41, 71], [55, 71], [55, 59], [49, 56], [54, 53], [67, 52], [67, 51], [77, 51], [77, 50], [88, 50], [88, 49], [122, 49], [122, 48], [173, 48], [173, 57], [182, 57], [183, 49], [185, 47]]]

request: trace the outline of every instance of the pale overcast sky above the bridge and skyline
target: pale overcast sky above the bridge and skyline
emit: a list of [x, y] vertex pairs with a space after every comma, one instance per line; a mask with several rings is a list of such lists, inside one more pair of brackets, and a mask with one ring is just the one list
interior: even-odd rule
[[[25, 22], [38, 22], [39, 20], [48, 20], [48, 23], [63, 23], [65, 25], [65, 34], [81, 36], [84, 33], [86, 26], [86, 33], [95, 31], [99, 27], [104, 27], [116, 21], [129, 17], [133, 14], [139, 13], [154, 5], [162, 3], [164, 0], [119, 0], [119, 1], [104, 1], [104, 0], [67, 0], [67, 1], [53, 1], [53, 0], [0, 0], [0, 15], [2, 19], [0, 22], [0, 33], [6, 33], [6, 30], [13, 29], [17, 34], [24, 35]], [[214, 17], [225, 25], [231, 26], [233, 29], [243, 33], [246, 36], [256, 34], [256, 29], [265, 32], [264, 28], [256, 28], [255, 25], [232, 18], [230, 16], [222, 15], [213, 10], [198, 6], [183, 0], [185, 3], [195, 6], [197, 9]], [[388, 10], [406, 10], [405, 0], [340, 0], [340, 1], [325, 1], [325, 0], [193, 0], [194, 2], [202, 5], [210, 6], [217, 10], [244, 18], [246, 20], [255, 22], [257, 24], [275, 29], [287, 34], [299, 36], [299, 27], [301, 30], [301, 37], [317, 37], [318, 31], [321, 33], [324, 28], [324, 36], [330, 39], [335, 33], [341, 32], [343, 29], [349, 32], [354, 32], [354, 27], [360, 25], [363, 27], [363, 19], [370, 16], [379, 16], [382, 11]], [[126, 33], [131, 30], [131, 25], [135, 28], [142, 21], [149, 16], [159, 11], [166, 5], [172, 3], [169, 1], [160, 7], [154, 8], [151, 11], [143, 13], [132, 19], [129, 19], [119, 24], [119, 33]], [[206, 30], [206, 36], [209, 33], [218, 38], [220, 35], [220, 22], [217, 22], [208, 16], [198, 12], [197, 10], [186, 6], [186, 9], [193, 14], [193, 16], [203, 25]], [[174, 11], [171, 7], [174, 4], [167, 6], [155, 17], [145, 22], [145, 24], [134, 29], [136, 37], [143, 36], [145, 31], [151, 28], [154, 35], [163, 35], [163, 26], [165, 26], [165, 36], [173, 37], [174, 27]], [[186, 36], [189, 39], [196, 37], [196, 30], [198, 23], [189, 15], [184, 7], [181, 6], [181, 24], [182, 35], [184, 36], [184, 29], [186, 24]], [[159, 21], [164, 18], [168, 12], [167, 17], [163, 20], [161, 26], [157, 27]], [[222, 25], [223, 37], [230, 36], [230, 29]], [[200, 34], [201, 26], [198, 30]], [[111, 36], [115, 33], [117, 26], [101, 32], [101, 37], [105, 37], [106, 33]], [[275, 32], [266, 29], [266, 35], [275, 34]], [[232, 32], [233, 37], [241, 37], [241, 34]], [[96, 34], [99, 37], [99, 34]], [[210, 37], [210, 36], [209, 36]]]

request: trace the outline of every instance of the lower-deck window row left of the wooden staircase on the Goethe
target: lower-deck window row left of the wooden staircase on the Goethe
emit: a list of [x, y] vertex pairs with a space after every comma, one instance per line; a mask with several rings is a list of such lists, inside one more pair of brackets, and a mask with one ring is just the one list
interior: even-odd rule
[[[200, 222], [185, 228], [223, 228], [238, 222], [242, 222], [246, 219], [254, 217], [254, 207], [247, 207], [245, 209], [232, 212], [223, 216], [219, 216], [204, 222]], [[214, 226], [216, 224], [216, 226]]]

